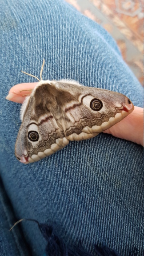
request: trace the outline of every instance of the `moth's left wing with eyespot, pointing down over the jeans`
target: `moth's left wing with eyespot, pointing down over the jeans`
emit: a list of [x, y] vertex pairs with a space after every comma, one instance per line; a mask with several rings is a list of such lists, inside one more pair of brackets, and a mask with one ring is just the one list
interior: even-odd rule
[[36, 94], [29, 98], [21, 116], [23, 120], [15, 145], [15, 155], [20, 162], [38, 161], [69, 143], [48, 105], [41, 104], [40, 97], [36, 101]]

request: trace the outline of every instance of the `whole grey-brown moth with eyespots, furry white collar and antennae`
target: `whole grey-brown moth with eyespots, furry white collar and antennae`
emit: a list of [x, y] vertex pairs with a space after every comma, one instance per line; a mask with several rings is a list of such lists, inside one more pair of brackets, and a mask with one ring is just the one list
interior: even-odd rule
[[28, 164], [50, 156], [70, 140], [97, 136], [133, 109], [132, 102], [118, 92], [86, 87], [73, 80], [41, 78], [20, 110], [16, 158]]

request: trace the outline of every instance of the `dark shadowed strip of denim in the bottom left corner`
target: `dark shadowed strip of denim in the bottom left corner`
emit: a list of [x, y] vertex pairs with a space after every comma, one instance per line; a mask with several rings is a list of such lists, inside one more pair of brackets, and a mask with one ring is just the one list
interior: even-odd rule
[[0, 256], [30, 256], [30, 248], [19, 227], [9, 231], [15, 221], [11, 202], [0, 180]]

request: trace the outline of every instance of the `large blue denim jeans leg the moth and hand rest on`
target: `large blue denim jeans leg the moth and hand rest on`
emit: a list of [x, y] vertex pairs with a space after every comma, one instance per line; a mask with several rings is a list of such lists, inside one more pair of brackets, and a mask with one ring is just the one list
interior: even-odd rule
[[[0, 176], [15, 217], [52, 225], [73, 248], [80, 239], [89, 252], [104, 242], [123, 256], [136, 247], [141, 256], [143, 148], [102, 133], [21, 164], [14, 156], [20, 104], [5, 96], [15, 84], [35, 81], [20, 70], [40, 77], [43, 59], [45, 80], [68, 78], [121, 92], [140, 107], [143, 88], [108, 32], [63, 0], [1, 0], [0, 19]], [[20, 227], [32, 255], [44, 255], [36, 224]], [[7, 236], [3, 228], [0, 235]]]

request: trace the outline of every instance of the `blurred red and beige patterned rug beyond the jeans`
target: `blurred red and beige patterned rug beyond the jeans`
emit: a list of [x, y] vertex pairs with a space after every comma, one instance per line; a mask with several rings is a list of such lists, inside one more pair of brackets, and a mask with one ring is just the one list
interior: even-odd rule
[[122, 56], [144, 83], [144, 0], [65, 0], [99, 23], [116, 40]]

